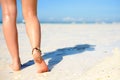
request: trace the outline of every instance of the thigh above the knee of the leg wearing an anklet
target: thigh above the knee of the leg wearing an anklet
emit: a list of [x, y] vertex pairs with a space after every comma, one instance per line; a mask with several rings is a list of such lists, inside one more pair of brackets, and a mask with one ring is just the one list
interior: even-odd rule
[[22, 0], [23, 16], [37, 15], [37, 0]]

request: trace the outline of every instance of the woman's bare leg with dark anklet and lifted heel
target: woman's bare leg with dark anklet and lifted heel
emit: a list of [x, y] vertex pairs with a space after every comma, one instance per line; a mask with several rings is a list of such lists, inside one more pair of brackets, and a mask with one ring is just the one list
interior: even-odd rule
[[[37, 0], [22, 0], [23, 16], [26, 23], [26, 31], [30, 39], [32, 48], [40, 49], [41, 27], [37, 18]], [[48, 71], [48, 67], [43, 59], [41, 52], [33, 50], [34, 62], [39, 73]]]

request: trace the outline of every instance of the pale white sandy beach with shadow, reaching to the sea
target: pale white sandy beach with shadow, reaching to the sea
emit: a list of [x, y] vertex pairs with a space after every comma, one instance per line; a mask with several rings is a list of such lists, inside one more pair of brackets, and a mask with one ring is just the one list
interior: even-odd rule
[[25, 24], [17, 24], [22, 70], [13, 72], [0, 24], [0, 80], [120, 80], [120, 24], [41, 24], [50, 71], [36, 73]]

